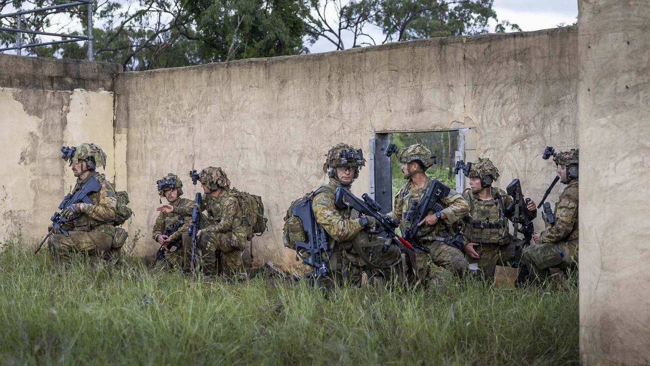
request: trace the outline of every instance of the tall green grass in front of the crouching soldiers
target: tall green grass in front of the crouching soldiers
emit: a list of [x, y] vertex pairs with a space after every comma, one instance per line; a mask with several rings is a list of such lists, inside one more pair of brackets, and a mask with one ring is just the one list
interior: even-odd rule
[[3, 365], [573, 365], [578, 289], [339, 289], [244, 283], [0, 249]]

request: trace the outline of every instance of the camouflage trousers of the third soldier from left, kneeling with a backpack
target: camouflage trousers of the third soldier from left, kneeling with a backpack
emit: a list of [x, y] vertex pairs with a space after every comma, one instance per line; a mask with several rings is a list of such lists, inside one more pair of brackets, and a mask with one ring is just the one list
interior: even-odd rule
[[[194, 249], [195, 260], [206, 275], [224, 275], [229, 278], [246, 277], [242, 253], [246, 247], [246, 234], [240, 232], [202, 232]], [[189, 268], [192, 240], [183, 233], [185, 268]], [[196, 266], [196, 264], [195, 264]]]

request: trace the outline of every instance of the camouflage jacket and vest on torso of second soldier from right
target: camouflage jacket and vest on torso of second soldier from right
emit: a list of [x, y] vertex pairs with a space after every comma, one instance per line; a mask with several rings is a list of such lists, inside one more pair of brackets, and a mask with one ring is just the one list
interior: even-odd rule
[[492, 187], [491, 194], [491, 200], [483, 201], [470, 188], [463, 192], [463, 198], [469, 204], [469, 215], [463, 219], [463, 234], [470, 242], [496, 244], [508, 236], [509, 226], [505, 212], [514, 199], [496, 187]]

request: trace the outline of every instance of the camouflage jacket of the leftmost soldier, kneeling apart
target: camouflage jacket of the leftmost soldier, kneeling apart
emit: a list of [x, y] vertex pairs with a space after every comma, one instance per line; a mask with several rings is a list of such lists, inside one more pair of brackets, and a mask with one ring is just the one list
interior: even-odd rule
[[101, 185], [98, 192], [93, 192], [88, 195], [92, 200], [93, 206], [88, 214], [82, 213], [71, 222], [66, 223], [66, 225], [64, 225], [64, 228], [66, 229], [88, 231], [99, 225], [112, 225], [115, 219], [115, 210], [117, 209], [118, 200], [117, 197], [115, 197], [115, 189], [106, 179], [105, 175], [92, 172], [84, 180], [77, 178], [77, 184], [75, 184], [72, 194], [77, 190], [81, 190], [83, 185], [91, 176], [94, 176]]

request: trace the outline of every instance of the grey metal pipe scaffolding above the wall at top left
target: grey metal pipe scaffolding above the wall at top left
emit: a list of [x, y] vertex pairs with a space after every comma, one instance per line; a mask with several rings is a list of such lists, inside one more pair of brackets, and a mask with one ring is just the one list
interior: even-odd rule
[[[60, 44], [68, 42], [79, 42], [87, 41], [88, 42], [88, 60], [92, 60], [93, 49], [92, 49], [92, 13], [93, 13], [93, 2], [94, 0], [77, 0], [72, 3], [65, 3], [60, 5], [52, 5], [51, 7], [35, 8], [29, 10], [18, 10], [17, 12], [12, 12], [8, 14], [0, 14], [0, 19], [9, 18], [12, 16], [16, 17], [16, 28], [0, 27], [0, 31], [13, 32], [16, 33], [16, 46], [0, 48], [0, 51], [9, 51], [10, 49], [15, 49], [16, 54], [21, 54], [21, 49], [38, 47], [38, 46], [48, 46], [50, 44]], [[42, 31], [32, 31], [31, 29], [23, 28], [23, 15], [31, 14], [36, 12], [44, 12], [47, 10], [61, 9], [61, 8], [70, 8], [70, 7], [79, 7], [79, 6], [88, 6], [88, 35], [64, 35], [62, 33], [49, 33]], [[51, 42], [38, 42], [32, 44], [23, 44], [22, 35], [27, 33], [30, 35], [43, 35], [43, 36], [55, 36], [61, 38], [69, 38], [62, 40], [55, 40]]]

